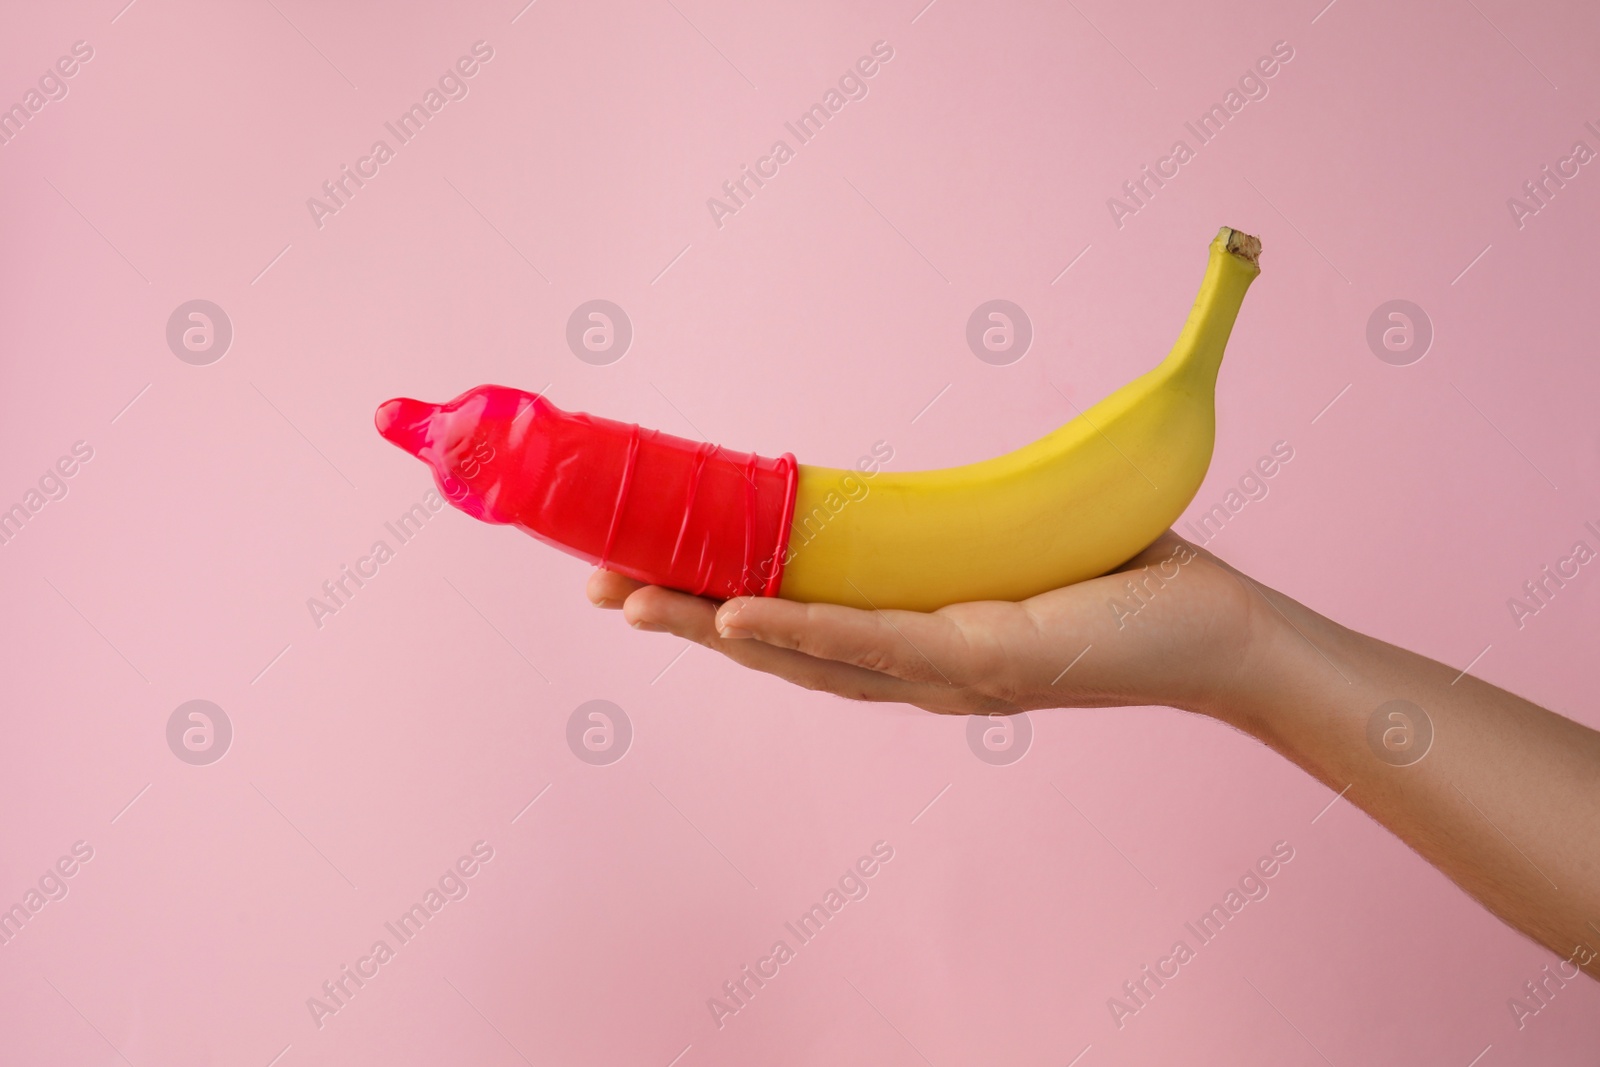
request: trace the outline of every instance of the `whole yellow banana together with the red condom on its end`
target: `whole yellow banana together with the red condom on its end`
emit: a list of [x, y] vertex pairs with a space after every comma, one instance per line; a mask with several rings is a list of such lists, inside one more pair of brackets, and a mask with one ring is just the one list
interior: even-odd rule
[[1104, 574], [1166, 530], [1211, 462], [1213, 394], [1261, 242], [1222, 229], [1160, 366], [1010, 454], [947, 470], [797, 464], [478, 386], [397, 397], [378, 432], [440, 493], [589, 563], [717, 598], [930, 611]]

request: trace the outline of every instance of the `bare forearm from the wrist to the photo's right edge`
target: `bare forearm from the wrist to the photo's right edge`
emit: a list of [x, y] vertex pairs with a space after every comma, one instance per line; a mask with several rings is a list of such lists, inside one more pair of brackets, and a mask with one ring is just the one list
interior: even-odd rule
[[1490, 910], [1600, 977], [1600, 733], [1261, 592], [1272, 609], [1248, 669], [1197, 710], [1349, 787]]

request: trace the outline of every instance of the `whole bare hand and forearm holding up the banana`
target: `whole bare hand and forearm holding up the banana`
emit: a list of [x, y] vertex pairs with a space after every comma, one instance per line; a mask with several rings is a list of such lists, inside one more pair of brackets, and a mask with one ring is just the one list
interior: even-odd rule
[[[1600, 979], [1600, 733], [1346, 629], [1173, 533], [1104, 577], [928, 614], [717, 603], [605, 569], [587, 592], [637, 629], [856, 701], [952, 715], [1163, 704], [1216, 718], [1342, 790], [1568, 961], [1558, 974]], [[1370, 741], [1397, 699], [1432, 723], [1411, 763], [1414, 713], [1381, 713]]]

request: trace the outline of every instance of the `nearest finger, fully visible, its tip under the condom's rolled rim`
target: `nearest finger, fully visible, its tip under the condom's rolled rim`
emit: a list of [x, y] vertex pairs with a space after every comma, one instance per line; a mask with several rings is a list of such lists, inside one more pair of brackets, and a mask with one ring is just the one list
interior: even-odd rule
[[861, 611], [774, 597], [741, 597], [717, 611], [723, 638], [832, 659], [906, 681], [954, 685], [966, 673], [965, 638], [950, 619], [918, 611]]

